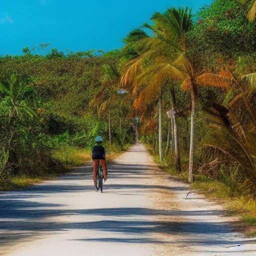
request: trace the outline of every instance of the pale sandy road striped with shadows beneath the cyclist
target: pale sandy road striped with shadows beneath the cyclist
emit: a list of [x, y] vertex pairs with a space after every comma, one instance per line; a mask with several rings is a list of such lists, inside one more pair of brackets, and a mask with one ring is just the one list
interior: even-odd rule
[[91, 167], [0, 193], [0, 255], [245, 256], [254, 239], [233, 231], [224, 209], [189, 192], [134, 144], [108, 166], [103, 193]]

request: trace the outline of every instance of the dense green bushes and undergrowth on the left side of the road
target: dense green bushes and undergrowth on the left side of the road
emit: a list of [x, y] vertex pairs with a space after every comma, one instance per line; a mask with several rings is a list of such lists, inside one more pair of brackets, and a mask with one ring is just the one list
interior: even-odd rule
[[118, 50], [64, 54], [51, 49], [38, 55], [25, 47], [23, 52], [0, 57], [1, 189], [23, 187], [83, 164], [98, 134], [109, 160], [132, 143], [130, 104], [120, 103], [125, 96], [114, 99], [110, 111], [98, 111], [100, 95], [89, 106], [104, 65], [118, 65]]

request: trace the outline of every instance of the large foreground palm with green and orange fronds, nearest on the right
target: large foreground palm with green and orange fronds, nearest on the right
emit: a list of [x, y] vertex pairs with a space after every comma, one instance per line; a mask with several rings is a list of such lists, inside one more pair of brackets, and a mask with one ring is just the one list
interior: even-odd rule
[[[188, 54], [189, 44], [185, 32], [192, 23], [191, 10], [168, 8], [164, 13], [156, 12], [152, 17], [153, 25], [144, 27], [152, 31], [153, 36], [138, 39], [133, 45], [140, 51], [137, 58], [126, 64], [122, 75], [123, 84], [131, 84], [135, 77], [147, 76], [147, 88], [161, 88], [170, 80], [181, 81], [181, 88], [190, 91], [190, 149], [189, 182], [192, 181], [194, 154], [194, 115], [196, 108], [196, 91], [200, 86], [228, 87], [230, 78], [208, 73], [203, 70], [195, 57]], [[146, 66], [146, 68], [145, 68]], [[151, 88], [151, 89], [150, 89]]]

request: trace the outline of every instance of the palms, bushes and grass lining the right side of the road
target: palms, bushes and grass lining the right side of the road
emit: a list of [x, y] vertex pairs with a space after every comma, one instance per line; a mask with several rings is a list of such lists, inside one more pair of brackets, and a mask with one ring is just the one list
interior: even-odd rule
[[[155, 12], [122, 49], [140, 137], [166, 170], [256, 223], [255, 1]], [[252, 230], [253, 231], [253, 230]]]

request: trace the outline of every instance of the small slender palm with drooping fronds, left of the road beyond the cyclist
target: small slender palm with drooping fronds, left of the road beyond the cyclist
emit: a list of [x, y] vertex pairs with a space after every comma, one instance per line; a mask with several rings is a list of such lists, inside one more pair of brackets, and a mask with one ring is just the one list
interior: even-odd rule
[[98, 108], [98, 115], [100, 112], [107, 110], [108, 119], [108, 139], [111, 148], [111, 106], [116, 99], [116, 90], [119, 87], [119, 74], [113, 70], [110, 65], [103, 65], [103, 75], [100, 78], [100, 87], [97, 93], [90, 101], [90, 106]]

